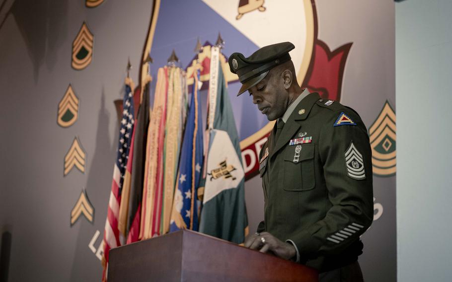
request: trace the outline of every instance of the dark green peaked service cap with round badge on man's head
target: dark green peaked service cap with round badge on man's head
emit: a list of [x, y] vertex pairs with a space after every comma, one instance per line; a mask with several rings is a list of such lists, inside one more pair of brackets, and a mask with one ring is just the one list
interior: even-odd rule
[[242, 83], [237, 96], [259, 83], [271, 69], [291, 60], [289, 51], [294, 48], [294, 44], [282, 42], [264, 46], [248, 58], [237, 52], [230, 55], [229, 69]]

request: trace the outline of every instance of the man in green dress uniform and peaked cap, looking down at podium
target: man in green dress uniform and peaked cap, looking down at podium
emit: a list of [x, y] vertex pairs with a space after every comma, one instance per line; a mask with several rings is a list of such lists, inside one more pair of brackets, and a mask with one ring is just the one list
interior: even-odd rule
[[[319, 271], [319, 281], [363, 281], [358, 256], [373, 221], [371, 146], [353, 109], [297, 83], [284, 42], [229, 67], [275, 126], [259, 155], [264, 220], [245, 246]], [[251, 102], [250, 101], [250, 102]]]

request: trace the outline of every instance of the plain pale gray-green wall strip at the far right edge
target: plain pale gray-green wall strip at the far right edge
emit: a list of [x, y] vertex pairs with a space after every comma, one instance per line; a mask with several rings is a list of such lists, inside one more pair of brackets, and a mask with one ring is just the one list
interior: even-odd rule
[[451, 281], [452, 1], [396, 4], [398, 281]]

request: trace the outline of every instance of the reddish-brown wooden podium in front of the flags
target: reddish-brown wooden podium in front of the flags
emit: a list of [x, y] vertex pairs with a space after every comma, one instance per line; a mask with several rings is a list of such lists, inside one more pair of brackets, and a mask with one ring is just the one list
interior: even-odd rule
[[108, 282], [317, 282], [303, 265], [189, 230], [110, 250]]

